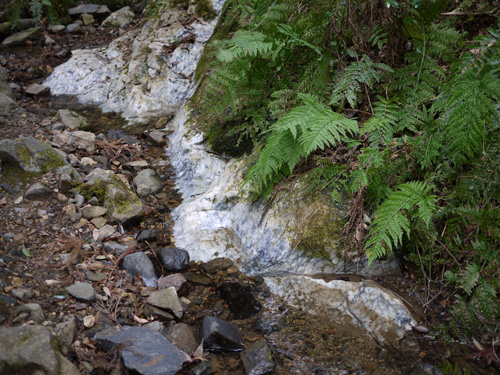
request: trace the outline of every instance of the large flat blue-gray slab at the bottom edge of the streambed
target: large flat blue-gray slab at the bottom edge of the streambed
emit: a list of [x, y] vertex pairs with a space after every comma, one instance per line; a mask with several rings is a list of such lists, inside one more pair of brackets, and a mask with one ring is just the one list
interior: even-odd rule
[[163, 335], [144, 327], [107, 329], [95, 338], [104, 350], [122, 344], [125, 367], [143, 375], [175, 375], [188, 359]]

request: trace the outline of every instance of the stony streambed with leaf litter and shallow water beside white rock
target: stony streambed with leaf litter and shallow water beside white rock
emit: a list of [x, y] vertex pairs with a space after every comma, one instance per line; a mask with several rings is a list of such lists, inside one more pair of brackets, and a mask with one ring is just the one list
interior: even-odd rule
[[376, 345], [287, 306], [229, 259], [175, 248], [166, 119], [127, 127], [30, 86], [140, 18], [100, 22], [0, 50], [18, 104], [0, 114], [0, 374], [438, 371], [415, 367], [425, 350]]

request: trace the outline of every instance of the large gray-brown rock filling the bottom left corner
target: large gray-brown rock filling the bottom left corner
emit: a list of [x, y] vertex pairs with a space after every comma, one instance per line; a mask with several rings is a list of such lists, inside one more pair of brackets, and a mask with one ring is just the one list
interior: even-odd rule
[[3, 374], [79, 375], [56, 348], [52, 329], [42, 326], [0, 329], [0, 369]]

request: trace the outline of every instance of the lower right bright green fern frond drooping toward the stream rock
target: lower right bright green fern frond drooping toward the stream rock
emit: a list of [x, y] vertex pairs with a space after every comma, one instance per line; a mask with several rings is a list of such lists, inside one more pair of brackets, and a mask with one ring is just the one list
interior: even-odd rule
[[[429, 225], [436, 210], [436, 196], [428, 195], [431, 187], [425, 182], [407, 182], [397, 189], [375, 211], [376, 219], [365, 245], [370, 264], [400, 246], [403, 234], [410, 235], [410, 220], [407, 216], [415, 215]], [[414, 206], [418, 206], [416, 213], [411, 211]]]

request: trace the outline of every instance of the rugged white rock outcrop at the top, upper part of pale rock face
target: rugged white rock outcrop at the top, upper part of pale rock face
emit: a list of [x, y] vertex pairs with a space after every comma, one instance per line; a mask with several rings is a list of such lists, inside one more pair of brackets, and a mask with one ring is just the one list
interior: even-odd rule
[[[220, 13], [224, 1], [212, 3]], [[75, 17], [82, 13], [92, 12], [70, 9]], [[73, 51], [73, 57], [44, 84], [54, 95], [78, 95], [82, 102], [100, 104], [105, 111], [121, 112], [131, 120], [175, 113], [194, 91], [191, 78], [217, 20], [185, 24], [189, 17], [185, 11], [163, 8], [159, 14], [138, 35], [118, 38], [106, 49]], [[132, 43], [128, 63], [123, 43]], [[165, 55], [164, 46], [172, 46], [172, 52]]]

